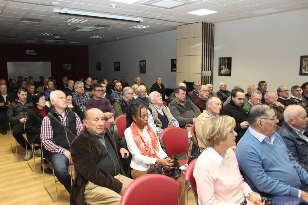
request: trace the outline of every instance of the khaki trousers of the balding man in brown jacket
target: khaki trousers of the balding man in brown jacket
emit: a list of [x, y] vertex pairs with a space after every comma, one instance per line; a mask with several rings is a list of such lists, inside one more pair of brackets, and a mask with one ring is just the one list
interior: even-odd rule
[[[114, 178], [123, 183], [122, 187], [124, 189], [126, 189], [126, 187], [133, 181], [132, 179], [120, 174], [114, 176]], [[119, 205], [121, 197], [122, 196], [115, 191], [106, 187], [101, 187], [90, 181], [88, 181], [84, 189], [84, 201], [91, 205]]]

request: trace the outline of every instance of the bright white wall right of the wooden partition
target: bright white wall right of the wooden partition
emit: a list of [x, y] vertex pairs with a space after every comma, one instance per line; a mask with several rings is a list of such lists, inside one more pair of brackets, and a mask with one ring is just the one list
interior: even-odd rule
[[[247, 18], [215, 24], [214, 91], [219, 82], [227, 89], [239, 84], [257, 86], [260, 80], [267, 90], [278, 86], [289, 89], [307, 82], [299, 75], [301, 55], [308, 55], [308, 9]], [[218, 76], [218, 58], [232, 57], [232, 76]]]

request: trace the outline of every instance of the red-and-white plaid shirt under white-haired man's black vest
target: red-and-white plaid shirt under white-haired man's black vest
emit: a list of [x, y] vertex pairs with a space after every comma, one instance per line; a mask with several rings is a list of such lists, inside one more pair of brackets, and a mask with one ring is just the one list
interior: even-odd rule
[[[65, 111], [65, 116], [62, 116], [58, 111], [56, 111], [61, 123], [65, 125], [66, 119], [67, 119], [67, 111]], [[75, 113], [76, 117], [76, 131], [77, 135], [79, 132], [83, 130], [81, 120], [79, 116]], [[42, 137], [42, 143], [45, 147], [46, 150], [51, 151], [52, 153], [59, 153], [63, 154], [65, 151], [65, 148], [60, 147], [56, 145], [55, 143], [52, 142], [53, 139], [53, 132], [52, 132], [52, 127], [50, 125], [50, 119], [46, 116], [43, 119], [42, 126], [41, 126], [41, 137]]]

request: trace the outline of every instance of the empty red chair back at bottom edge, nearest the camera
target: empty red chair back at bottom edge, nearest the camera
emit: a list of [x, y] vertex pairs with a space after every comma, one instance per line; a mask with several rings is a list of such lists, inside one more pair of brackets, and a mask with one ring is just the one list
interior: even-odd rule
[[124, 205], [178, 205], [179, 183], [159, 174], [143, 175], [125, 189], [120, 204]]

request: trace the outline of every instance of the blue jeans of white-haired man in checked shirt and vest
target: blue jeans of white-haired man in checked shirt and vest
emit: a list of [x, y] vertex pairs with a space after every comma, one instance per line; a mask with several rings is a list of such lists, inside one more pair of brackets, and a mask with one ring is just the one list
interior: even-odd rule
[[[69, 149], [67, 149], [70, 151]], [[70, 164], [69, 159], [63, 154], [49, 153], [49, 161], [54, 168], [55, 175], [59, 182], [63, 184], [68, 193], [71, 193], [71, 175], [68, 173], [67, 167]]]

